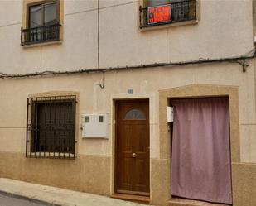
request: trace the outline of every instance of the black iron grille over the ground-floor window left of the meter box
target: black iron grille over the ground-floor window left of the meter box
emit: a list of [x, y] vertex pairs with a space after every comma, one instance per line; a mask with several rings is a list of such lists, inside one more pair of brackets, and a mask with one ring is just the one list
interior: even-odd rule
[[75, 95], [27, 98], [27, 157], [75, 159], [75, 103]]

